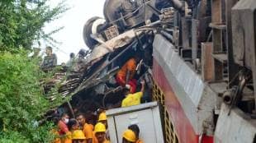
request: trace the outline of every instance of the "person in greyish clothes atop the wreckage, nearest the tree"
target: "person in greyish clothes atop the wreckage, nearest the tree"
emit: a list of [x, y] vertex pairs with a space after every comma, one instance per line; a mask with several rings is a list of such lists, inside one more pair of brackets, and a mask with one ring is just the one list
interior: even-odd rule
[[46, 56], [41, 67], [55, 67], [57, 65], [57, 56], [52, 53], [52, 48], [50, 46], [46, 47]]

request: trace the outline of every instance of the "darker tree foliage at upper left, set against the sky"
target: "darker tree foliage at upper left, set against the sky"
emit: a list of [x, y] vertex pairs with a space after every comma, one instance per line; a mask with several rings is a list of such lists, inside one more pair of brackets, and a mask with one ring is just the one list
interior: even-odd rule
[[17, 53], [20, 48], [31, 49], [35, 40], [50, 37], [61, 28], [45, 34], [45, 23], [54, 21], [67, 10], [64, 2], [57, 7], [47, 5], [49, 0], [8, 0], [0, 2], [0, 51]]

